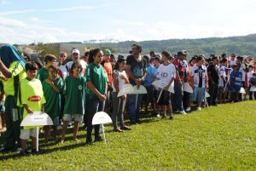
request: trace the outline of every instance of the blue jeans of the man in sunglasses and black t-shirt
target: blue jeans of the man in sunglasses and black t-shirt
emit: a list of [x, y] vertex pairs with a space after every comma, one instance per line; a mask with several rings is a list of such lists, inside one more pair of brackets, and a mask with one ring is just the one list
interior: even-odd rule
[[[136, 108], [137, 99], [137, 108]], [[139, 121], [139, 109], [143, 100], [143, 94], [129, 94], [128, 95], [128, 111], [130, 115], [130, 121], [137, 123]]]

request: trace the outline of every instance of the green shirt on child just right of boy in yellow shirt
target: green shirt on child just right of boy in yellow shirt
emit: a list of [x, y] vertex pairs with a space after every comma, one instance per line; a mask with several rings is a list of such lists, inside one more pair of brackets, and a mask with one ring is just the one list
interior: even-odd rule
[[[61, 77], [56, 77], [54, 84], [62, 92], [63, 81]], [[57, 93], [55, 89], [44, 80], [43, 82], [44, 98], [46, 103], [44, 104], [44, 111], [49, 117], [58, 117], [61, 113], [61, 92]]]

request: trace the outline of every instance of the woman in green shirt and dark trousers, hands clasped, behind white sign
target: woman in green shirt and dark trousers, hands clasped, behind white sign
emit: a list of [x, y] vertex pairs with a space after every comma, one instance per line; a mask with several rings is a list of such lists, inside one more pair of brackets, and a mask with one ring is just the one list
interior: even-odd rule
[[[108, 88], [108, 75], [101, 65], [103, 52], [100, 48], [90, 50], [89, 65], [86, 68], [86, 107], [85, 116], [87, 120], [86, 144], [91, 145], [92, 118], [98, 111], [104, 110], [106, 93]], [[100, 125], [95, 125], [95, 141], [101, 141]]]

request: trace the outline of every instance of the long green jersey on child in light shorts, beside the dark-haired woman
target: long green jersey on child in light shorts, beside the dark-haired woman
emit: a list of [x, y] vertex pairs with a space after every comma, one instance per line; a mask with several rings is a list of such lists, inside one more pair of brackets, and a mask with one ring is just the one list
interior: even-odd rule
[[63, 94], [66, 97], [64, 114], [84, 114], [85, 88], [86, 81], [84, 77], [66, 77], [63, 90]]

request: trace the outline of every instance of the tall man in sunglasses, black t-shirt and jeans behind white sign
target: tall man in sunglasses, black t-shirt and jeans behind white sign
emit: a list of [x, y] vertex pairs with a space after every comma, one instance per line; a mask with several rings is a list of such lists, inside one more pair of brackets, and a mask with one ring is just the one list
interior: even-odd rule
[[[131, 46], [131, 49], [132, 54], [127, 56], [125, 69], [129, 77], [130, 83], [139, 87], [141, 84], [143, 84], [143, 81], [147, 76], [147, 61], [141, 55], [142, 46], [138, 44], [133, 44]], [[136, 124], [139, 122], [139, 109], [141, 106], [142, 98], [142, 94], [128, 95], [128, 111], [132, 124]]]

